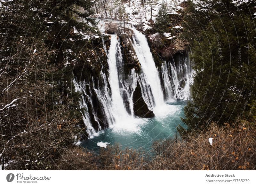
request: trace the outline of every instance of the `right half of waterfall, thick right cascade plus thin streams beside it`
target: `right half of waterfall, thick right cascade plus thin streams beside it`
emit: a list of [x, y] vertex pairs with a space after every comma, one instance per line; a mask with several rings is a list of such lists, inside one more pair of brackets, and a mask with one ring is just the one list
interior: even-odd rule
[[[174, 61], [170, 62], [170, 64], [164, 61], [161, 65], [161, 70], [158, 70], [146, 36], [135, 28], [131, 29], [134, 34], [133, 48], [142, 69], [139, 75], [139, 83], [142, 87], [143, 98], [156, 117], [163, 118], [168, 114], [172, 114], [173, 111], [172, 105], [168, 105], [165, 102], [173, 98], [184, 100], [189, 98], [189, 88], [193, 83], [193, 73], [189, 58], [188, 56], [179, 58], [177, 67], [172, 65]], [[162, 74], [162, 80], [164, 81], [165, 99], [160, 74]]]

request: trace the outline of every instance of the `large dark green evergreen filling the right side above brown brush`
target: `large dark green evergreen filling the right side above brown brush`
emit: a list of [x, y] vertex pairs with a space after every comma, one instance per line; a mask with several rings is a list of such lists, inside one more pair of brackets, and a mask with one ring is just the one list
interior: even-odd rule
[[256, 33], [251, 15], [255, 2], [247, 5], [233, 1], [190, 2], [184, 27], [195, 77], [193, 101], [185, 106], [183, 119], [189, 132], [211, 122], [222, 125], [255, 116], [251, 110], [256, 98]]

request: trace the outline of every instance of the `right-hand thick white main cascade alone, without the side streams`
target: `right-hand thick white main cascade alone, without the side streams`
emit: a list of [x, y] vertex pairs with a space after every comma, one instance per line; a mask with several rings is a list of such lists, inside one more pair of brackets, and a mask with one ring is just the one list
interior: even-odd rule
[[[148, 41], [145, 35], [141, 32], [132, 28], [133, 30], [133, 48], [136, 52], [138, 60], [140, 62], [142, 73], [141, 73], [141, 85], [143, 87], [142, 93], [143, 98], [146, 98], [145, 102], [149, 106], [149, 109], [156, 111], [156, 108], [161, 107], [164, 104], [164, 95], [161, 88], [160, 77], [156, 69], [156, 65], [148, 46]], [[152, 93], [145, 86], [149, 85]], [[152, 94], [153, 99], [148, 98]]]

